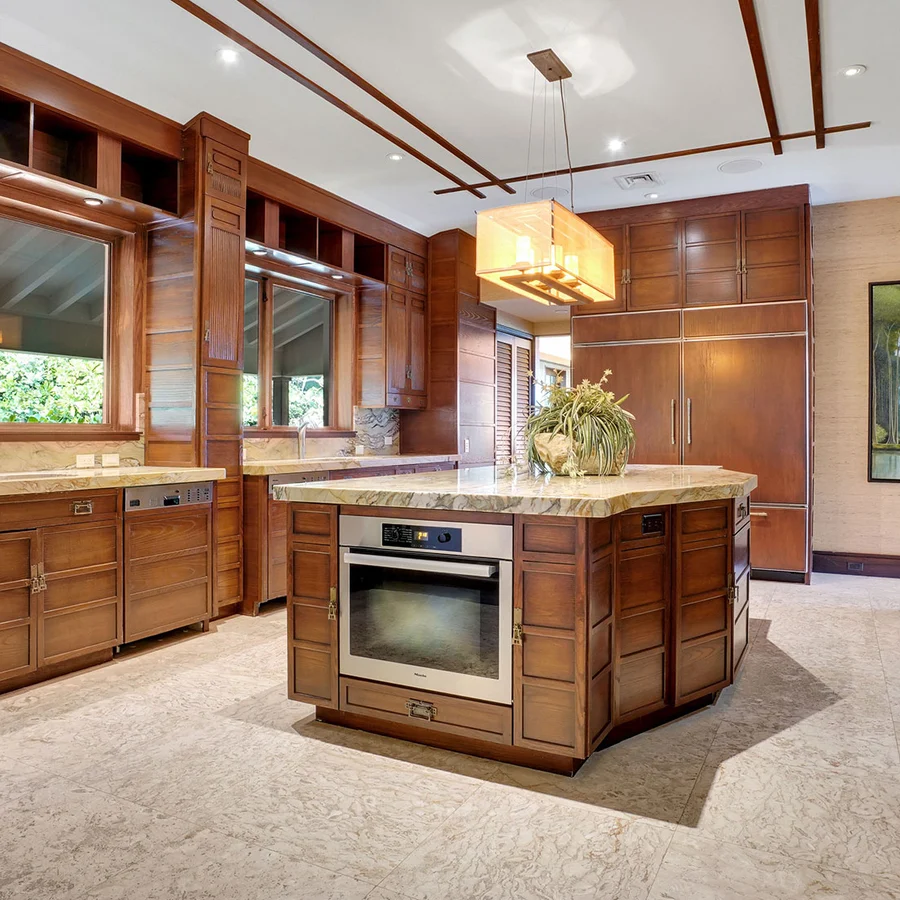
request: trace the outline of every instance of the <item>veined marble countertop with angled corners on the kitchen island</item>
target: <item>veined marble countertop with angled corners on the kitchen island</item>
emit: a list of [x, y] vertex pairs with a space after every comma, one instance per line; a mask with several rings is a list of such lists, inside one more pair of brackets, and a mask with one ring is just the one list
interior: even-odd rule
[[583, 478], [518, 474], [482, 466], [421, 475], [391, 475], [283, 484], [277, 500], [446, 509], [602, 519], [642, 506], [742, 497], [755, 475], [717, 466], [629, 466], [624, 475]]

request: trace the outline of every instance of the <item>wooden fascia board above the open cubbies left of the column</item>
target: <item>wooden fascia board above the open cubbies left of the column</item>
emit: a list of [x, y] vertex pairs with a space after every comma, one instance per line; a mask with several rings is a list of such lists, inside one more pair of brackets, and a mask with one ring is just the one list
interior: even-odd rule
[[0, 43], [0, 88], [166, 156], [181, 158], [181, 125]]

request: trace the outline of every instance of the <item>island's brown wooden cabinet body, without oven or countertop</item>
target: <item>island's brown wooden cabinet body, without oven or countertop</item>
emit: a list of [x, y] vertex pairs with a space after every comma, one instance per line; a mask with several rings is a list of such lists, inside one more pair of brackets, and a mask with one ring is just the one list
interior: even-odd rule
[[329, 721], [392, 723], [397, 736], [498, 759], [511, 757], [490, 745], [510, 745], [531, 754], [525, 764], [577, 768], [607, 741], [712, 702], [749, 644], [742, 497], [611, 519], [510, 517], [511, 705], [342, 676], [338, 507], [285, 506], [289, 696]]

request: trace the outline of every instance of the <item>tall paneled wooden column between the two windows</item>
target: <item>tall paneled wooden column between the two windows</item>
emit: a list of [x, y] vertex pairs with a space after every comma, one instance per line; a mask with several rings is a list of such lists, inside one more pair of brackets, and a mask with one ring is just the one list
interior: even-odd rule
[[241, 599], [241, 374], [249, 135], [201, 113], [183, 133], [182, 218], [148, 235], [148, 465], [222, 467], [214, 609]]

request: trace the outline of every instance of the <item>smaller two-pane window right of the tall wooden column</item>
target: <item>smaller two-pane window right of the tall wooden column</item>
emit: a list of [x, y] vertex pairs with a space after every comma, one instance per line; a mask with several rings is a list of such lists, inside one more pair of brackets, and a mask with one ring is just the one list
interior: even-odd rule
[[331, 298], [267, 278], [248, 278], [244, 425], [324, 428], [330, 424], [331, 347]]

